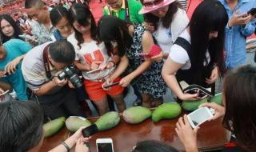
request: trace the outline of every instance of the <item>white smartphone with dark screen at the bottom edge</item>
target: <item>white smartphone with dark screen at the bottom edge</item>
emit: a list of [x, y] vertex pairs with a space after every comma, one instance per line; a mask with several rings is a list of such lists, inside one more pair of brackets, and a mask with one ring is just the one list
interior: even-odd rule
[[113, 141], [111, 138], [96, 139], [97, 152], [114, 152]]

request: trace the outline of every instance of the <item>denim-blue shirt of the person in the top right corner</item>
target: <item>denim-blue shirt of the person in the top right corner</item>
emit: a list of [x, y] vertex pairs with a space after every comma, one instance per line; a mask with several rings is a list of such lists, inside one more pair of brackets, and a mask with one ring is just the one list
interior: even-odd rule
[[[246, 13], [248, 10], [256, 6], [255, 0], [238, 0], [238, 5], [233, 11], [230, 10], [226, 0], [219, 0], [226, 9], [229, 19], [236, 10], [240, 14]], [[225, 51], [226, 51], [226, 67], [234, 68], [246, 63], [246, 37], [254, 33], [255, 19], [246, 26], [226, 26]]]

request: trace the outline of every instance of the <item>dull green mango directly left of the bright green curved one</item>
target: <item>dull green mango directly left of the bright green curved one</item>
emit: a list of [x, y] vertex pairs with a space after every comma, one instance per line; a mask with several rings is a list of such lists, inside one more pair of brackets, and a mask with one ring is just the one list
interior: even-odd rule
[[131, 124], [143, 122], [151, 117], [152, 112], [146, 107], [133, 106], [123, 111], [122, 118]]

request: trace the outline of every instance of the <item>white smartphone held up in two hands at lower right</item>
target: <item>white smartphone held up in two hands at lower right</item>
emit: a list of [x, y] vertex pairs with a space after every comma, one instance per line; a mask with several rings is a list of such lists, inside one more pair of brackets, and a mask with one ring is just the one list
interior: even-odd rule
[[210, 118], [214, 117], [214, 110], [210, 110], [208, 107], [198, 108], [194, 110], [192, 113], [187, 115], [189, 119], [190, 125], [195, 128], [201, 125], [203, 122], [206, 122]]

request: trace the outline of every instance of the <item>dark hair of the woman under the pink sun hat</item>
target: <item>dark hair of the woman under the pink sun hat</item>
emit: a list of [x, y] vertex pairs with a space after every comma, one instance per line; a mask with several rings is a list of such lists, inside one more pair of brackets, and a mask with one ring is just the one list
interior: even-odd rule
[[[143, 1], [142, 1], [143, 3]], [[182, 5], [180, 2], [172, 2], [170, 3], [170, 5], [168, 6], [168, 11], [166, 13], [166, 16], [164, 16], [162, 19], [162, 26], [164, 26], [165, 28], [170, 28], [170, 24], [174, 19], [174, 14], [176, 14], [176, 12], [178, 11], [178, 9], [182, 9]], [[160, 20], [160, 18], [158, 18], [157, 16], [155, 16], [152, 13], [147, 13], [144, 14], [144, 18], [146, 22], [150, 22], [153, 23], [154, 26], [158, 25], [158, 22]]]

